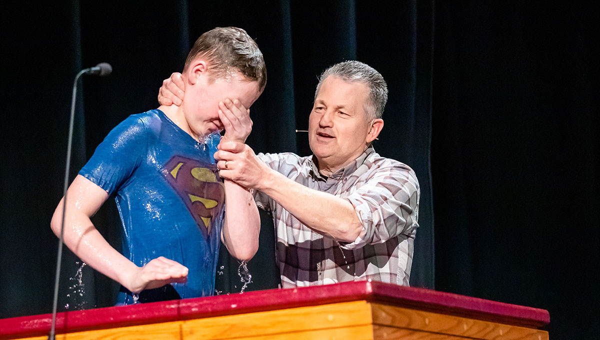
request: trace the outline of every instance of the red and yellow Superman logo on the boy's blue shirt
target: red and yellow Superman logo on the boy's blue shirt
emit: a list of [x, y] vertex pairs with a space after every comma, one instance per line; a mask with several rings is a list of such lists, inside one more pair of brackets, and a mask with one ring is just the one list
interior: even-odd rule
[[225, 203], [225, 190], [220, 179], [205, 166], [197, 160], [175, 156], [167, 162], [163, 173], [208, 237]]

